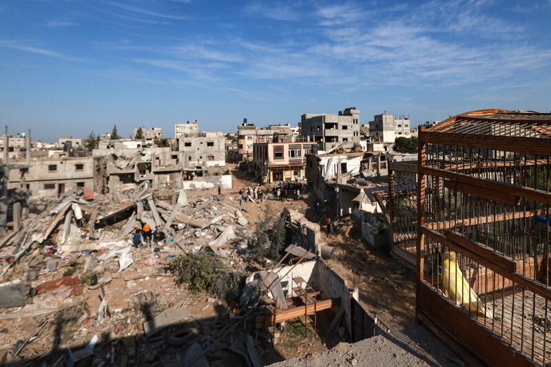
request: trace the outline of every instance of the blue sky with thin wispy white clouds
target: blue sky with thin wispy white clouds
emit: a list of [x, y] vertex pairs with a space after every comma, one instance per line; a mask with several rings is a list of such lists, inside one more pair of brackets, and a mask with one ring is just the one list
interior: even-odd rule
[[231, 132], [355, 106], [551, 109], [551, 0], [0, 1], [0, 125]]

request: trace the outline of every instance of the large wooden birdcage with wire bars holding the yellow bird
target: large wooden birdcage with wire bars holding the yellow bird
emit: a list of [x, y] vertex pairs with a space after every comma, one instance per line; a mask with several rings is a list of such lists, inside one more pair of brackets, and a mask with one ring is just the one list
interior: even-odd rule
[[417, 319], [490, 365], [551, 362], [551, 114], [419, 132]]

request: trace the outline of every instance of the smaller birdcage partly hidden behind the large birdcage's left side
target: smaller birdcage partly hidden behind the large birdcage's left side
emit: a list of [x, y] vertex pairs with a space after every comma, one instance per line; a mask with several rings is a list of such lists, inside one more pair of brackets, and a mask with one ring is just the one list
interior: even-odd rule
[[417, 263], [417, 169], [417, 162], [388, 162], [391, 253], [411, 268]]

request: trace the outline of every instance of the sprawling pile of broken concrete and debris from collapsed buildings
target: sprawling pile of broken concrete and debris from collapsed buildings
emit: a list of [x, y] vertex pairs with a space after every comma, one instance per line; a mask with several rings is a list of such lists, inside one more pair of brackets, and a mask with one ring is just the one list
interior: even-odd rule
[[228, 322], [238, 304], [190, 293], [167, 273], [171, 259], [192, 253], [245, 269], [251, 229], [239, 202], [147, 184], [32, 202], [21, 229], [0, 243], [0, 363], [258, 360], [252, 339]]

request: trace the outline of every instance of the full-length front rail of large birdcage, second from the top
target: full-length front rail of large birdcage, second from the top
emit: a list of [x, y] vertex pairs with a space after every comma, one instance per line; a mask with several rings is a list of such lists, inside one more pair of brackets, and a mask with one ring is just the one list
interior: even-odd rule
[[444, 169], [420, 167], [419, 170], [424, 175], [444, 177], [450, 180], [456, 180], [478, 187], [486, 187], [486, 189], [512, 193], [516, 196], [520, 196], [521, 198], [535, 200], [542, 202], [543, 204], [551, 205], [551, 193], [542, 190], [531, 189], [530, 187], [519, 187], [504, 182], [497, 182], [494, 180], [486, 180], [484, 178], [466, 176], [464, 174], [456, 174], [454, 172], [444, 171]]

